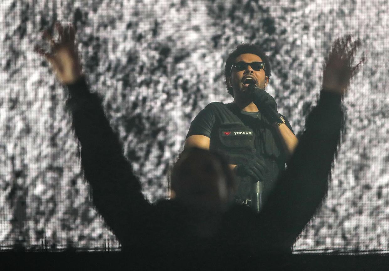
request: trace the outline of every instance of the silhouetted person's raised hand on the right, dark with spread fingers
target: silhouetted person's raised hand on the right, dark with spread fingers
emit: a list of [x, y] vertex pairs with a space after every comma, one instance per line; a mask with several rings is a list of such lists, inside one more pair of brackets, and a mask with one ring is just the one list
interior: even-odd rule
[[350, 85], [350, 80], [359, 70], [366, 57], [362, 56], [354, 65], [355, 54], [361, 46], [357, 39], [352, 42], [351, 35], [337, 38], [333, 43], [323, 72], [323, 90], [344, 94]]

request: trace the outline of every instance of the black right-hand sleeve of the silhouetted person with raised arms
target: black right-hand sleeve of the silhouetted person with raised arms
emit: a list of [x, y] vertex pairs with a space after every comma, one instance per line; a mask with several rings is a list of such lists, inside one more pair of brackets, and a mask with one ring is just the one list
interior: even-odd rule
[[327, 192], [344, 117], [340, 101], [340, 95], [323, 91], [307, 117], [288, 168], [259, 215], [259, 243], [266, 250], [290, 252]]

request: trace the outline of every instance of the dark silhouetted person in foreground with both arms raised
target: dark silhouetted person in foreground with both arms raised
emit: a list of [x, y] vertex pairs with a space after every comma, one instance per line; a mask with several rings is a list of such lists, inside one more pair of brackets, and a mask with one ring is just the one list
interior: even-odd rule
[[93, 202], [124, 251], [168, 259], [186, 256], [199, 265], [203, 259], [228, 265], [263, 252], [290, 252], [327, 190], [342, 129], [340, 102], [364, 60], [351, 65], [358, 41], [351, 42], [351, 37], [335, 41], [318, 105], [308, 115], [287, 171], [263, 211], [255, 215], [245, 206], [232, 204], [236, 185], [223, 157], [196, 148], [185, 150], [175, 165], [173, 199], [150, 205], [123, 157], [99, 96], [89, 91], [82, 76], [73, 27], [63, 30], [60, 23], [56, 26], [58, 42], [45, 32], [53, 54], [36, 50], [67, 85], [67, 108], [81, 145], [82, 169], [93, 187]]

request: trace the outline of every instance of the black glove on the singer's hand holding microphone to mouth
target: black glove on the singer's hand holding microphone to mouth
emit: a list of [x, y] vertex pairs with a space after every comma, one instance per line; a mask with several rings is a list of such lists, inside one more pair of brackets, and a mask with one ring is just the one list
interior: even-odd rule
[[260, 89], [254, 84], [250, 84], [249, 90], [251, 91], [252, 101], [258, 107], [258, 110], [266, 115], [270, 122], [282, 123], [277, 111], [277, 103], [272, 95], [267, 93], [265, 89]]

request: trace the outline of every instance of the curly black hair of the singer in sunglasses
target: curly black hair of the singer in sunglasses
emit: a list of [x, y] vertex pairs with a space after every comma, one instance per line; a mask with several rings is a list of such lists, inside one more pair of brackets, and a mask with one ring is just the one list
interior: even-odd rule
[[231, 52], [228, 55], [228, 58], [226, 60], [226, 66], [224, 66], [224, 77], [226, 80], [227, 85], [227, 91], [231, 94], [231, 96], [234, 96], [234, 92], [232, 87], [228, 86], [228, 78], [231, 77], [231, 66], [234, 64], [235, 58], [240, 56], [241, 54], [256, 54], [259, 56], [262, 61], [265, 63], [265, 75], [270, 78], [270, 75], [272, 75], [272, 69], [270, 67], [269, 59], [266, 56], [265, 52], [262, 51], [261, 47], [256, 44], [240, 44], [238, 45], [237, 49], [235, 51]]

